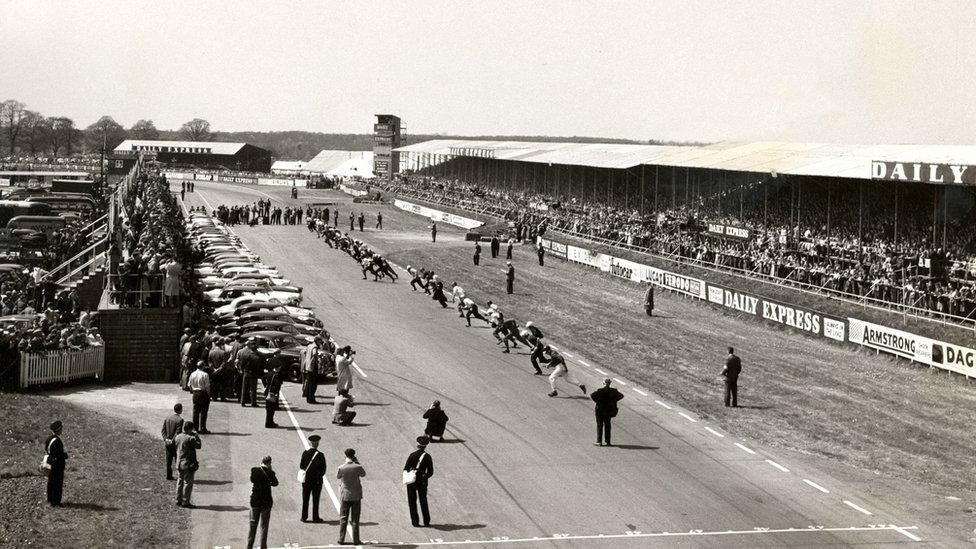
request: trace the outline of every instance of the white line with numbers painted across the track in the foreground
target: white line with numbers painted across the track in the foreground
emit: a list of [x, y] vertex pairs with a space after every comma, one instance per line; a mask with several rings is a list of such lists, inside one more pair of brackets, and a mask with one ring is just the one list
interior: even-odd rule
[[[545, 537], [531, 537], [531, 538], [509, 538], [506, 536], [498, 536], [492, 539], [466, 539], [464, 541], [451, 541], [440, 538], [430, 539], [429, 541], [418, 541], [418, 542], [402, 542], [394, 541], [384, 543], [384, 546], [390, 545], [410, 545], [413, 547], [430, 547], [430, 546], [455, 546], [455, 545], [501, 545], [501, 544], [516, 544], [516, 543], [551, 543], [553, 541], [576, 541], [576, 540], [596, 540], [596, 539], [643, 539], [643, 538], [686, 538], [686, 537], [720, 537], [720, 536], [767, 536], [770, 534], [800, 534], [803, 536], [809, 536], [811, 532], [834, 532], [834, 533], [844, 533], [844, 532], [898, 532], [904, 536], [908, 536], [909, 539], [913, 541], [921, 541], [921, 538], [912, 534], [908, 530], [917, 530], [917, 526], [895, 526], [894, 524], [885, 525], [870, 525], [870, 526], [847, 526], [847, 527], [812, 527], [808, 526], [805, 528], [754, 528], [752, 530], [722, 530], [708, 532], [704, 530], [691, 530], [688, 532], [627, 532], [625, 534], [589, 534], [589, 535], [573, 535], [573, 534], [553, 534], [551, 536]], [[343, 547], [341, 545], [299, 545], [292, 544], [288, 547], [275, 547], [274, 549], [327, 549], [331, 547]], [[348, 546], [346, 546], [348, 547]]]

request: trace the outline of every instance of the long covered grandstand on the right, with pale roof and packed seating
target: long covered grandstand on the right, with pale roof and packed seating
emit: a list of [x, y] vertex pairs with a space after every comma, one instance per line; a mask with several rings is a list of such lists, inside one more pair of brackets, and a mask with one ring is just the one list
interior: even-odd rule
[[[434, 140], [398, 192], [971, 323], [976, 148]], [[419, 178], [417, 176], [420, 176]]]

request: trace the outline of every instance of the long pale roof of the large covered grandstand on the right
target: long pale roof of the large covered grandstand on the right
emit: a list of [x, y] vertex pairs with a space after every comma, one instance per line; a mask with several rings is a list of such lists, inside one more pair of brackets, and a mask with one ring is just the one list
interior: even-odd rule
[[536, 143], [436, 139], [399, 152], [626, 169], [641, 164], [786, 175], [871, 179], [871, 161], [976, 165], [976, 147], [723, 141], [702, 146]]

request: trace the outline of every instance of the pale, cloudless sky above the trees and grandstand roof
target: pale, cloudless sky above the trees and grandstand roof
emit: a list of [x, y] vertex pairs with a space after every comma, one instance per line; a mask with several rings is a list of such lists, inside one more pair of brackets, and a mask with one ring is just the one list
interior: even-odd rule
[[0, 100], [84, 127], [976, 142], [976, 2], [19, 2]]

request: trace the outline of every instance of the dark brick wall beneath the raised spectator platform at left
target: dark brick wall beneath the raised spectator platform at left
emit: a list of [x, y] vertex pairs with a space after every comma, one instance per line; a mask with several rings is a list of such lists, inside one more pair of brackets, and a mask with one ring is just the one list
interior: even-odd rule
[[166, 381], [179, 364], [179, 309], [100, 309], [105, 381]]

